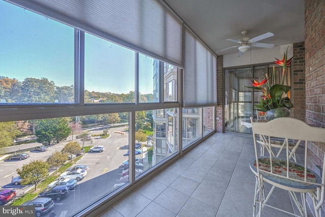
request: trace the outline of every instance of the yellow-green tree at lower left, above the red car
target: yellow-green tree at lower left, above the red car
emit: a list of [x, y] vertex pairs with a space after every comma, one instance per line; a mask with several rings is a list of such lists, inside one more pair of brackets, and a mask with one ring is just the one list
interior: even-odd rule
[[21, 184], [35, 184], [35, 190], [37, 184], [45, 179], [49, 174], [48, 163], [41, 160], [34, 160], [29, 164], [24, 164], [21, 169], [16, 170], [21, 177]]

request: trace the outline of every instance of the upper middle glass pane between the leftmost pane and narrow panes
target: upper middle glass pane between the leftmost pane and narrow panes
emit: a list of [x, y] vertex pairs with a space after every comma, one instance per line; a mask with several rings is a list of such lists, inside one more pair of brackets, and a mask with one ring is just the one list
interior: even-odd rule
[[85, 103], [135, 102], [135, 52], [85, 34]]

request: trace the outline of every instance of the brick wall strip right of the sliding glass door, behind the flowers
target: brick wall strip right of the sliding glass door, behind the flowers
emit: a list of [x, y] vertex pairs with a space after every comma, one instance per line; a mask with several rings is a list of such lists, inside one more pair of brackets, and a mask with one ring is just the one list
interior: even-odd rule
[[294, 58], [292, 60], [293, 83], [291, 84], [292, 98], [294, 104], [292, 114], [294, 118], [305, 121], [305, 42], [294, 43]]

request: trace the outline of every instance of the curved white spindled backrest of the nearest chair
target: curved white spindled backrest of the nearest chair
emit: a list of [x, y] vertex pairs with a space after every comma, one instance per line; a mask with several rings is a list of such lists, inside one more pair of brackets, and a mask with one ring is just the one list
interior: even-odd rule
[[[262, 171], [263, 173], [268, 173], [272, 176], [281, 176], [281, 178], [285, 177], [288, 180], [316, 184], [322, 186], [322, 191], [324, 191], [325, 158], [324, 156], [319, 156], [323, 161], [322, 165], [318, 165], [322, 168], [322, 174], [317, 174], [312, 169], [307, 169], [307, 167], [310, 166], [307, 164], [309, 160], [307, 156], [309, 151], [311, 151], [308, 149], [310, 143], [325, 142], [325, 128], [312, 127], [307, 125], [304, 121], [291, 117], [275, 118], [268, 122], [254, 122], [252, 117], [250, 117], [250, 120], [252, 123], [258, 176]], [[270, 153], [267, 158], [262, 159], [258, 156], [259, 143], [256, 141], [256, 136], [259, 137], [258, 140], [264, 141], [265, 145], [269, 145], [270, 149], [271, 138], [276, 138], [277, 140], [285, 142], [287, 147], [289, 142], [294, 142], [304, 149], [304, 158], [301, 159], [298, 164], [290, 161], [289, 148], [286, 148], [285, 157], [281, 160], [273, 157]], [[324, 151], [319, 152], [324, 154]], [[294, 174], [293, 171], [295, 172]]]

